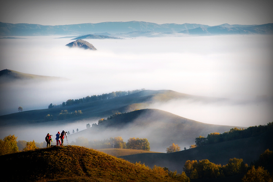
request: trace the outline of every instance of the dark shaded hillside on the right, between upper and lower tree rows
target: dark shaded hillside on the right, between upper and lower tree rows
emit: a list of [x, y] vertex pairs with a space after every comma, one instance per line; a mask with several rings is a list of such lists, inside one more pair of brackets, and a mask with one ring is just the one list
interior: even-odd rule
[[175, 153], [142, 153], [120, 157], [131, 162], [140, 161], [148, 166], [168, 167], [181, 173], [186, 160], [208, 159], [210, 162], [225, 165], [229, 159], [236, 157], [250, 165], [266, 149], [273, 149], [272, 131], [257, 137], [214, 143]]

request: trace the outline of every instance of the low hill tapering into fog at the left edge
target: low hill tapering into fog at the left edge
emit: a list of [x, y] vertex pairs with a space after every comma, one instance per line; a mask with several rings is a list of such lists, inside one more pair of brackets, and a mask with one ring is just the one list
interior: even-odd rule
[[61, 77], [49, 77], [49, 76], [41, 76], [35, 74], [27, 74], [21, 73], [19, 71], [14, 70], [1, 70], [0, 71], [0, 83], [15, 81], [15, 80], [54, 80], [54, 79], [65, 79]]

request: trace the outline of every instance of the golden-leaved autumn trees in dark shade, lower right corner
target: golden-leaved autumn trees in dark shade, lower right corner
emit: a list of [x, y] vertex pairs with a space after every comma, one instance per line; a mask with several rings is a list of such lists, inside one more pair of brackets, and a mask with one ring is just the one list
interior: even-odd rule
[[264, 166], [272, 165], [273, 153], [269, 149], [260, 155], [259, 160], [252, 163], [251, 167], [243, 162], [243, 159], [232, 158], [227, 165], [211, 163], [209, 160], [187, 160], [183, 167], [190, 179], [206, 179], [228, 177], [244, 174], [243, 182], [247, 181], [272, 181], [273, 177], [264, 169]]

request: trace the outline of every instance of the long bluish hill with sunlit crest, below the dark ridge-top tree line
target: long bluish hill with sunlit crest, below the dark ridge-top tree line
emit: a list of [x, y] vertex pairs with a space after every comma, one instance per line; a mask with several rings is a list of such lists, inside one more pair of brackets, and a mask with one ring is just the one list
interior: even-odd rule
[[[129, 112], [135, 109], [147, 108], [147, 105], [151, 102], [165, 102], [171, 99], [202, 99], [208, 100], [210, 98], [198, 97], [194, 95], [182, 94], [170, 90], [144, 90], [135, 94], [130, 94], [121, 97], [115, 97], [106, 100], [91, 101], [83, 104], [66, 106], [62, 108], [40, 109], [32, 111], [23, 111], [19, 113], [13, 113], [0, 116], [0, 125], [26, 125], [33, 123], [43, 123], [46, 115], [53, 116], [53, 122], [58, 120], [57, 116], [61, 110], [68, 110], [68, 112], [74, 112], [81, 110], [82, 115], [75, 118], [63, 120], [63, 122], [74, 122], [83, 119], [98, 119], [107, 118], [116, 112]], [[68, 98], [69, 99], [69, 98]], [[50, 104], [50, 101], [49, 101]], [[49, 123], [50, 124], [50, 123]]]

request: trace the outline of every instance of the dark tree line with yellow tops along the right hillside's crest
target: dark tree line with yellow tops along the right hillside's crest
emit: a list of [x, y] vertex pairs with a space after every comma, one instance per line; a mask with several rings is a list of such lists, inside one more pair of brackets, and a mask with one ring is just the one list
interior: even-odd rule
[[210, 133], [207, 137], [199, 136], [195, 139], [197, 147], [209, 145], [212, 143], [224, 142], [235, 139], [242, 139], [248, 137], [258, 136], [264, 132], [273, 130], [273, 122], [269, 122], [267, 125], [251, 126], [247, 129], [232, 128], [228, 132], [222, 134], [218, 132]]

